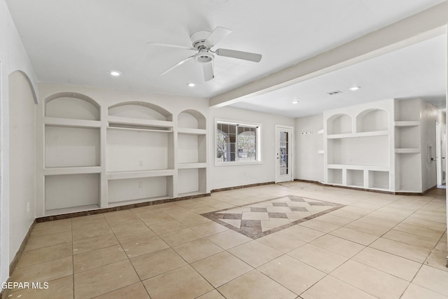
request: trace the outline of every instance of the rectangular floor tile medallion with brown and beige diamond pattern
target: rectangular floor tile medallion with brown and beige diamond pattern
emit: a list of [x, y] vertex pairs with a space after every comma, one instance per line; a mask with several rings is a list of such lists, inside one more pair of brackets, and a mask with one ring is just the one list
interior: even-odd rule
[[344, 207], [343, 204], [288, 195], [241, 207], [213, 211], [202, 216], [247, 237], [258, 239], [342, 207]]

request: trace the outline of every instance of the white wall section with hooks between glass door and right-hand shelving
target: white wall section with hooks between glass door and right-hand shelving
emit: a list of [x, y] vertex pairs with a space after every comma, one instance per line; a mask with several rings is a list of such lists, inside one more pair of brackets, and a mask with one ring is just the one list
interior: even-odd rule
[[[323, 181], [323, 114], [295, 119], [295, 179]], [[312, 132], [312, 134], [302, 134]]]

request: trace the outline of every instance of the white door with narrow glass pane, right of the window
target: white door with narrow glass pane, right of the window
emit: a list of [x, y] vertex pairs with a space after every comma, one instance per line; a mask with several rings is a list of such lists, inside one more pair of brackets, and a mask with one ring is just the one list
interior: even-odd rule
[[275, 126], [275, 182], [293, 181], [293, 127]]

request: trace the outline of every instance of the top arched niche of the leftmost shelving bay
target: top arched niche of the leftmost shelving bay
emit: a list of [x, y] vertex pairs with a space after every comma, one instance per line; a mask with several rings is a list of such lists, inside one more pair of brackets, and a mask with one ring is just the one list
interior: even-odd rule
[[99, 120], [99, 104], [76, 92], [59, 92], [45, 98], [45, 116], [78, 120]]

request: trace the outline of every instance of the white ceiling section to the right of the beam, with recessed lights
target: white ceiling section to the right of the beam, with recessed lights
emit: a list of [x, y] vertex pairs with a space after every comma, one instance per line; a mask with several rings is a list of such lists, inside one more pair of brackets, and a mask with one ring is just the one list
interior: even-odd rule
[[[447, 36], [437, 36], [230, 106], [297, 118], [382, 99], [421, 97], [444, 109], [446, 57]], [[360, 89], [349, 90], [353, 86]], [[341, 93], [327, 94], [335, 90]]]

